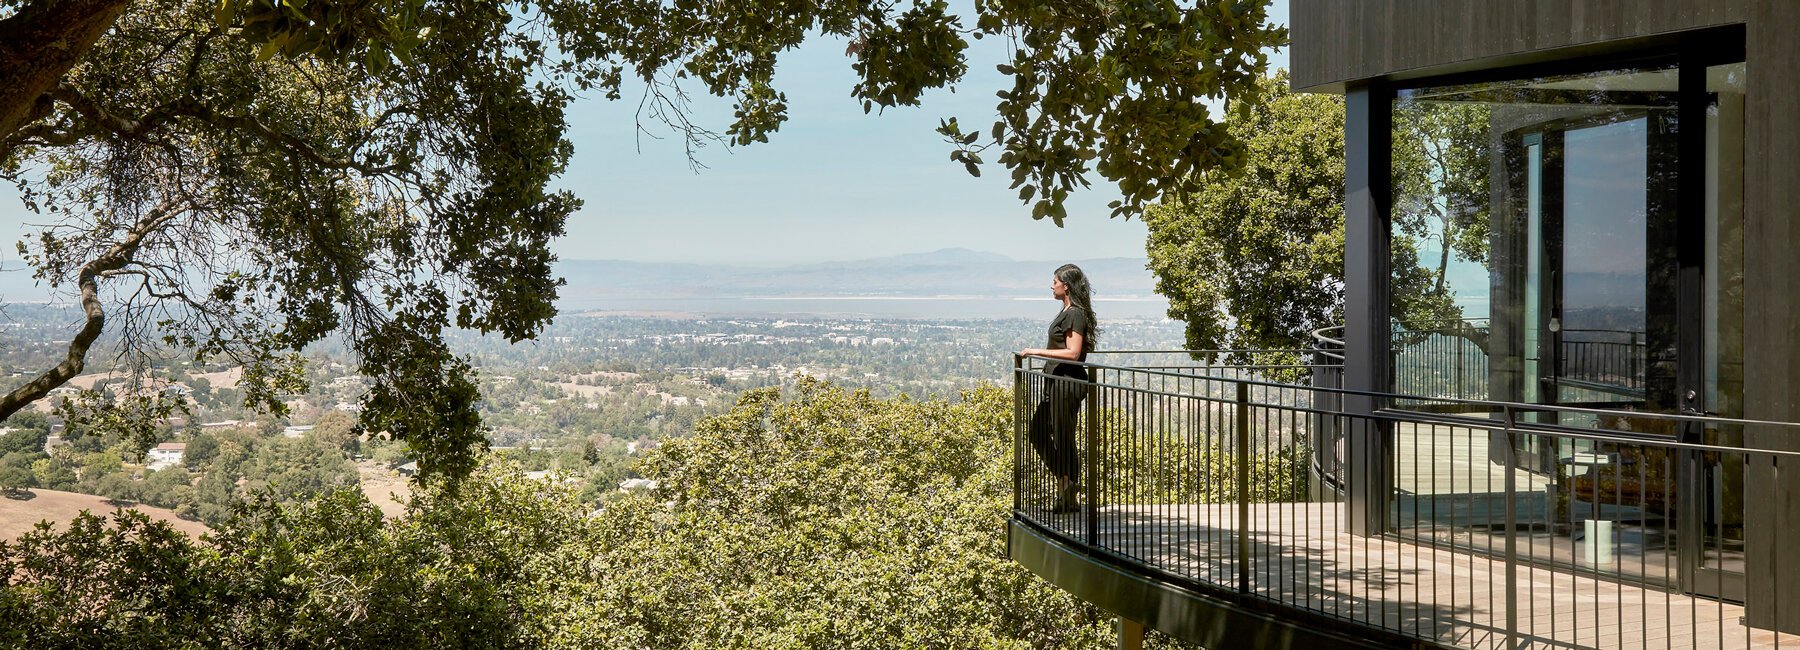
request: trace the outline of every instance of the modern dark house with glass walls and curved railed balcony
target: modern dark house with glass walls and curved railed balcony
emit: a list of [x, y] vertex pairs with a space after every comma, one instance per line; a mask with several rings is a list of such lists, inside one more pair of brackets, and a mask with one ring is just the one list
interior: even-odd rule
[[1125, 646], [1800, 646], [1800, 2], [1291, 16], [1346, 108], [1341, 330], [1098, 355], [1089, 504], [1021, 430], [1012, 556]]

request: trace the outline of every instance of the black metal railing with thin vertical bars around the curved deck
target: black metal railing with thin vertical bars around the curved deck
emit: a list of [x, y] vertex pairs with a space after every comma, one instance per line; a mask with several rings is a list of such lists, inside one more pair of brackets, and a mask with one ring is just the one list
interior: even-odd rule
[[[1087, 382], [1019, 358], [1015, 520], [1157, 580], [1451, 646], [1784, 641], [1741, 623], [1753, 601], [1730, 484], [1800, 457], [1744, 448], [1744, 427], [1800, 425], [1343, 391], [1330, 351], [1219, 358], [1093, 355]], [[1355, 394], [1445, 409], [1345, 412]], [[1062, 472], [1076, 510], [1033, 445], [1057, 434], [1033, 416], [1058, 398], [1080, 402], [1080, 470]], [[1391, 441], [1379, 535], [1350, 535], [1337, 490], [1361, 479], [1343, 463], [1354, 430]]]

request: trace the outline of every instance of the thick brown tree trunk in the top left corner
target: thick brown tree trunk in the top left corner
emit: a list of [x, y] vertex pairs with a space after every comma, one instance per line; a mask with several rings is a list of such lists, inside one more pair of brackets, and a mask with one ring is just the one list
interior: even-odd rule
[[0, 142], [50, 112], [47, 92], [130, 0], [34, 0], [0, 20]]

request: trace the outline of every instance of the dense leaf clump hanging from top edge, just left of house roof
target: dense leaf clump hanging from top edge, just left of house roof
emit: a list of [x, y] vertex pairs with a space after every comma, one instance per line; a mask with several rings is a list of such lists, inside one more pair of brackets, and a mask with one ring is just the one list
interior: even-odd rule
[[1114, 216], [1165, 194], [1197, 193], [1208, 173], [1237, 169], [1240, 135], [1195, 99], [1228, 99], [1242, 115], [1260, 101], [1265, 50], [1287, 43], [1285, 27], [1267, 25], [1267, 2], [979, 0], [976, 7], [977, 36], [1003, 36], [1013, 47], [999, 67], [1013, 81], [999, 92], [999, 162], [1012, 169], [1013, 187], [1022, 185], [1031, 216], [1058, 225], [1067, 193], [1087, 187], [1089, 160], [1125, 194], [1112, 203]]

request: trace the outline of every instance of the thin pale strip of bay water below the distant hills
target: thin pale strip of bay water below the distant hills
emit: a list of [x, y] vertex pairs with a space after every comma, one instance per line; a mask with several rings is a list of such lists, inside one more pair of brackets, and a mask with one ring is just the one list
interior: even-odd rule
[[[598, 304], [596, 304], [598, 302]], [[814, 319], [1042, 319], [1057, 315], [1051, 297], [976, 297], [976, 295], [781, 295], [781, 297], [621, 297], [594, 301], [581, 315], [644, 317], [814, 317]], [[1105, 319], [1161, 320], [1168, 313], [1163, 297], [1096, 299], [1096, 315]]]

